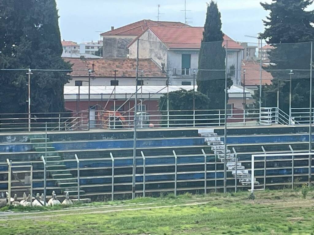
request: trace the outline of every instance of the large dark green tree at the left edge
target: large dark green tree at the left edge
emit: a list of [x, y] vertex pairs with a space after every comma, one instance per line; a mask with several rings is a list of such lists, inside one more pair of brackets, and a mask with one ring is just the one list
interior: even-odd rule
[[[55, 0], [0, 1], [0, 51], [2, 69], [70, 69], [61, 58]], [[28, 76], [25, 73], [0, 72], [0, 112], [27, 111]], [[63, 86], [70, 79], [67, 72], [33, 73], [31, 111], [63, 111]]]

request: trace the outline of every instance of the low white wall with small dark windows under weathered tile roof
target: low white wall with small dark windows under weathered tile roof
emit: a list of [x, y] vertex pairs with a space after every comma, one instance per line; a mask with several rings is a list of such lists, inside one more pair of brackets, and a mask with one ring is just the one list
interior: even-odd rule
[[[72, 77], [72, 80], [69, 81], [65, 86], [75, 86], [75, 81], [88, 81], [88, 77]], [[91, 86], [110, 86], [110, 81], [114, 80], [113, 77], [95, 77], [90, 79]], [[119, 86], [134, 86], [135, 85], [135, 77], [134, 78], [126, 78], [126, 77], [118, 77], [116, 80], [119, 81]], [[139, 78], [141, 80], [141, 78]], [[166, 78], [143, 78], [144, 85], [150, 86], [165, 86]], [[181, 85], [181, 84], [180, 84]], [[83, 86], [88, 86], [88, 82], [83, 82]]]

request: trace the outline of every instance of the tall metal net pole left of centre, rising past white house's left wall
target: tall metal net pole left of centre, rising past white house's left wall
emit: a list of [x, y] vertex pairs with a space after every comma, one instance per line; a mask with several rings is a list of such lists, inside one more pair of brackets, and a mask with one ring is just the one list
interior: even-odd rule
[[134, 134], [133, 134], [133, 177], [132, 177], [132, 199], [135, 198], [135, 173], [136, 173], [136, 112], [137, 112], [137, 82], [138, 82], [138, 48], [139, 39], [137, 40], [136, 56], [136, 81], [135, 81], [135, 107], [134, 107]]

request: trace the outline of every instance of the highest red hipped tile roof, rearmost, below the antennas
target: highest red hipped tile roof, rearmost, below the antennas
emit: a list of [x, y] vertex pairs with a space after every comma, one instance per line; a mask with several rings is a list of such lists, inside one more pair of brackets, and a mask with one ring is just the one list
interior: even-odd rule
[[108, 32], [102, 33], [100, 35], [139, 35], [142, 34], [145, 29], [150, 26], [185, 26], [190, 27], [187, 24], [181, 22], [172, 21], [153, 21], [153, 20], [140, 20], [138, 22], [122, 26], [117, 29], [110, 30]]

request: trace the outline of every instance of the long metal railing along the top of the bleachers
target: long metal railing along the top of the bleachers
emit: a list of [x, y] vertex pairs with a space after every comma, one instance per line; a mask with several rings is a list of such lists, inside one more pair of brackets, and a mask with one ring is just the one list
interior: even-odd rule
[[[90, 128], [134, 128], [134, 111], [93, 111]], [[314, 109], [312, 110], [314, 116]], [[293, 108], [291, 117], [277, 107], [227, 109], [227, 125], [307, 125], [308, 108]], [[150, 110], [137, 112], [137, 128], [219, 127], [225, 125], [225, 110]], [[0, 114], [0, 132], [82, 131], [88, 130], [88, 111], [65, 113]], [[312, 120], [313, 123], [313, 120]]]

